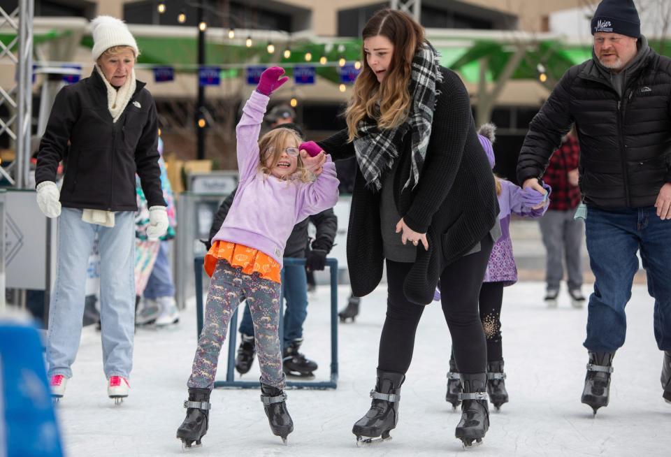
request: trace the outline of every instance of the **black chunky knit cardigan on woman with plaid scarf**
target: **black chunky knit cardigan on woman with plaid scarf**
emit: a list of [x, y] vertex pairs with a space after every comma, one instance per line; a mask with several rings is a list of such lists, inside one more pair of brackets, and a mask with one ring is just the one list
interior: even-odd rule
[[[498, 201], [491, 167], [477, 139], [466, 87], [453, 71], [441, 69], [442, 82], [433, 113], [431, 139], [419, 183], [403, 189], [410, 175], [411, 142], [408, 135], [399, 148], [394, 175], [398, 214], [410, 229], [426, 233], [428, 251], [417, 247], [417, 260], [405, 278], [408, 300], [426, 305], [440, 273], [470, 251], [496, 223]], [[354, 156], [347, 130], [318, 142], [333, 160]], [[365, 187], [358, 164], [352, 191], [347, 233], [347, 264], [354, 296], [372, 292], [382, 279], [380, 193]]]

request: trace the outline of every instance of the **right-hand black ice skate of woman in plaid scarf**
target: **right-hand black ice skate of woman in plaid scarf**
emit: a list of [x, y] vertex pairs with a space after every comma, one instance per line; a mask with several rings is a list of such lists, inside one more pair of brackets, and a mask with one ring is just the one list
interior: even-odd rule
[[454, 430], [454, 436], [463, 443], [464, 449], [482, 443], [489, 430], [489, 406], [487, 405], [486, 373], [461, 374], [463, 393], [461, 400], [461, 421]]

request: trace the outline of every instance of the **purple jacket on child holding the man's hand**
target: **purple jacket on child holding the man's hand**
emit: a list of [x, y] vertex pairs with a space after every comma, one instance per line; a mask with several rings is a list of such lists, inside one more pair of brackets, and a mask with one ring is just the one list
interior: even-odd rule
[[512, 241], [510, 240], [510, 215], [512, 213], [524, 217], [541, 217], [547, 211], [547, 205], [537, 210], [526, 207], [520, 198], [522, 189], [510, 181], [499, 180], [501, 194], [498, 196], [498, 220], [501, 224], [501, 238], [494, 243], [484, 273], [483, 282], [503, 282], [505, 286], [512, 286], [517, 282], [517, 266], [512, 256]]

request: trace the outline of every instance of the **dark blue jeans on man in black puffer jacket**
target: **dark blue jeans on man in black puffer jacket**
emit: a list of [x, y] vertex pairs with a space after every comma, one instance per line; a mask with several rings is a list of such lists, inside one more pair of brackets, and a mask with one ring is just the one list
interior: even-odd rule
[[640, 250], [648, 293], [655, 299], [654, 333], [661, 350], [671, 349], [671, 221], [654, 207], [600, 210], [589, 207], [585, 223], [589, 263], [596, 277], [589, 297], [590, 351], [614, 352], [624, 344], [624, 307], [638, 270]]

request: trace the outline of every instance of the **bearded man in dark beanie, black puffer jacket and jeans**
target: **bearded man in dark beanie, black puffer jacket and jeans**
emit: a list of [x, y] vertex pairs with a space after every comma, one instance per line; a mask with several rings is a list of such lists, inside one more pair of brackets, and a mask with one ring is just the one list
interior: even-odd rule
[[663, 398], [671, 402], [671, 59], [649, 48], [640, 27], [633, 1], [599, 4], [591, 20], [592, 59], [563, 75], [531, 122], [517, 164], [519, 182], [539, 188], [552, 151], [575, 124], [584, 203], [576, 217], [586, 219], [596, 277], [582, 402], [594, 414], [608, 405], [637, 252], [655, 299], [654, 334], [664, 351]]

